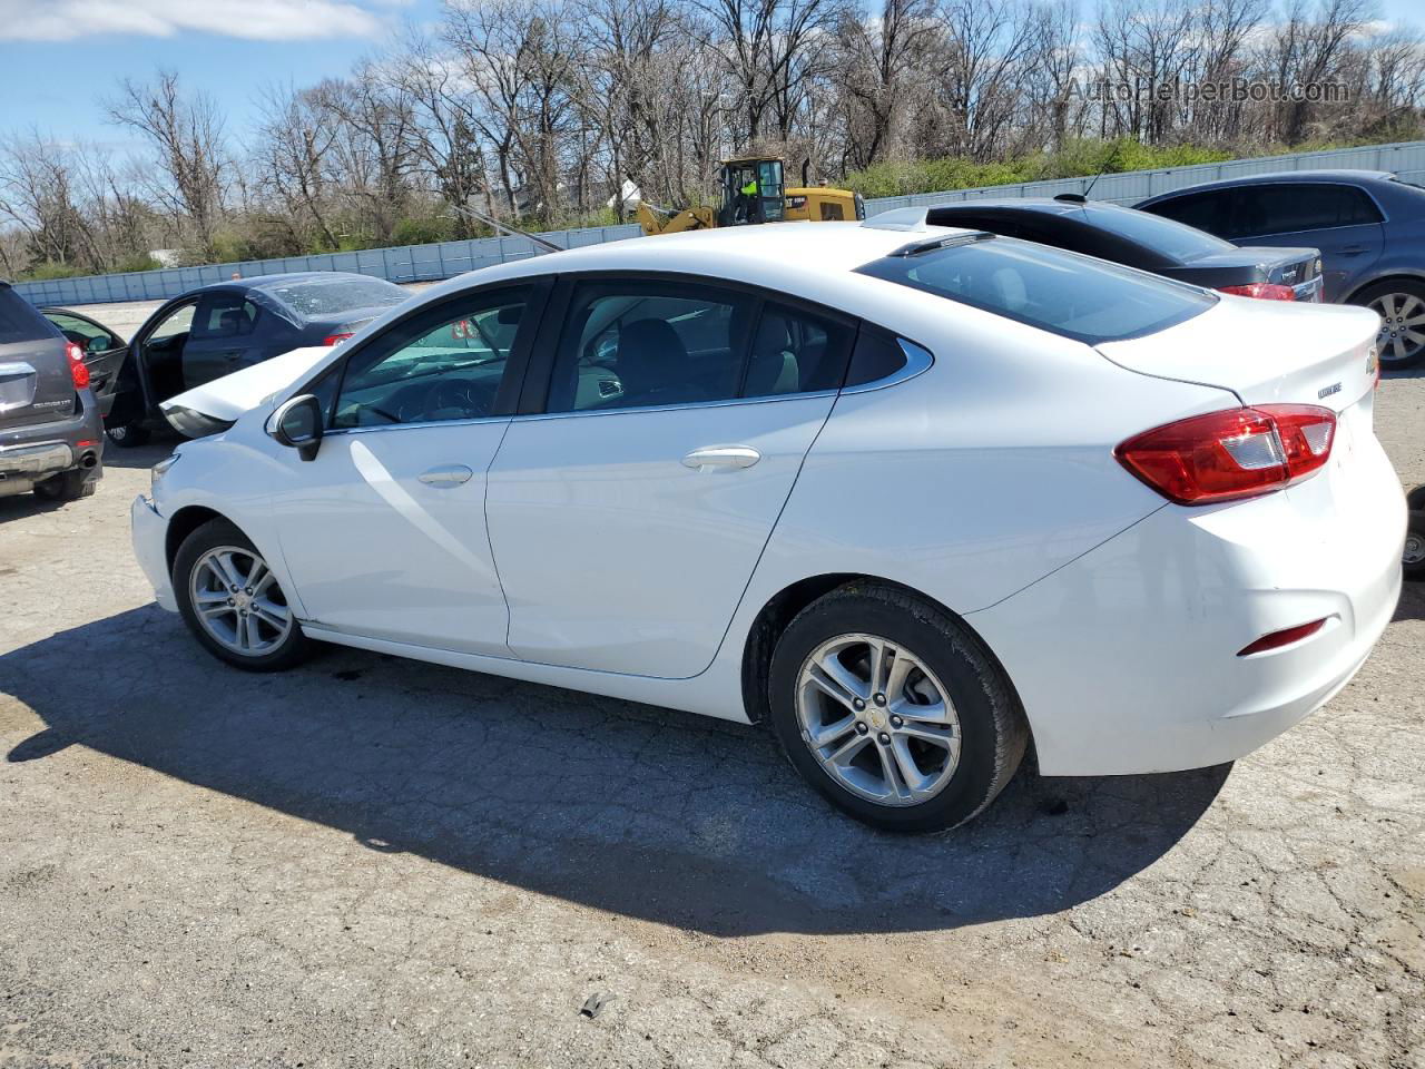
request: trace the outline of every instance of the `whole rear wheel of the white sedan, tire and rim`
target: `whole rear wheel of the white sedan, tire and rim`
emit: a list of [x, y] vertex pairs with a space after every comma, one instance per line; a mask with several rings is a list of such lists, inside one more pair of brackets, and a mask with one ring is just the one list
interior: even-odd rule
[[802, 777], [891, 831], [970, 820], [1029, 741], [1019, 698], [979, 639], [888, 586], [852, 583], [798, 613], [772, 654], [768, 697]]

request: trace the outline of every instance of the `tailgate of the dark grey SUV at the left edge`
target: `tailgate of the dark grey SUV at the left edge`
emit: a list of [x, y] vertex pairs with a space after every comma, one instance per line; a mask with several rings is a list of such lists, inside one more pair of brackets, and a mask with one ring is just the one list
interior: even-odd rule
[[0, 285], [0, 428], [74, 415], [74, 376], [64, 346], [53, 324]]

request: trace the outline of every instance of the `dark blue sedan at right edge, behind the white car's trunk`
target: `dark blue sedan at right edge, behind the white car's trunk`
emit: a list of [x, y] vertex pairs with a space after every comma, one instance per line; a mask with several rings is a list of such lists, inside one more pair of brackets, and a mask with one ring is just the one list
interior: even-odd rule
[[1315, 245], [1325, 299], [1381, 315], [1381, 363], [1425, 358], [1425, 188], [1388, 171], [1281, 171], [1150, 197], [1137, 205], [1227, 241]]

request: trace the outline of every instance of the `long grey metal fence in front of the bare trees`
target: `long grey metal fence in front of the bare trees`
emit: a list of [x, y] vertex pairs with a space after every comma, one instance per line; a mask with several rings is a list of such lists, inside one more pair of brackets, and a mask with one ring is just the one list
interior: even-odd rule
[[[1059, 178], [1045, 182], [1016, 182], [1013, 185], [985, 185], [973, 190], [923, 192], [912, 197], [882, 197], [866, 201], [866, 215], [892, 208], [926, 207], [950, 201], [986, 197], [1053, 197], [1060, 192], [1084, 192], [1093, 182], [1090, 198], [1116, 204], [1136, 204], [1154, 194], [1181, 190], [1218, 178], [1237, 178], [1267, 171], [1305, 171], [1315, 168], [1352, 168], [1394, 171], [1408, 181], [1425, 181], [1425, 141], [1401, 141], [1365, 148], [1335, 148], [1325, 153], [1294, 153], [1255, 160], [1228, 160], [1220, 164], [1167, 167], [1154, 171], [1106, 174], [1099, 180]], [[561, 248], [598, 245], [638, 237], [634, 224], [623, 227], [587, 227], [542, 234]], [[362, 249], [359, 252], [322, 252], [311, 257], [282, 257], [278, 259], [248, 259], [237, 264], [209, 264], [164, 271], [131, 271], [115, 275], [86, 278], [57, 278], [47, 282], [20, 282], [16, 292], [34, 305], [88, 305], [115, 301], [161, 301], [178, 296], [194, 286], [221, 282], [241, 275], [271, 275], [284, 271], [355, 271], [376, 275], [392, 282], [435, 282], [443, 278], [526, 259], [537, 254], [527, 238], [483, 238], [477, 241], [443, 241], [432, 245], [398, 245], [393, 248]]]

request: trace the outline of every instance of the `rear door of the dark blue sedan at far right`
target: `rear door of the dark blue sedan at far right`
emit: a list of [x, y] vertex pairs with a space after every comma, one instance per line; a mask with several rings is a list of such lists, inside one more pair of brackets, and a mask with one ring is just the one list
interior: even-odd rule
[[1344, 299], [1352, 279], [1381, 257], [1381, 210], [1355, 185], [1270, 182], [1244, 185], [1234, 194], [1228, 241], [1320, 249], [1327, 301]]

